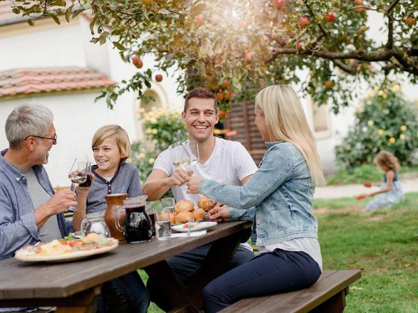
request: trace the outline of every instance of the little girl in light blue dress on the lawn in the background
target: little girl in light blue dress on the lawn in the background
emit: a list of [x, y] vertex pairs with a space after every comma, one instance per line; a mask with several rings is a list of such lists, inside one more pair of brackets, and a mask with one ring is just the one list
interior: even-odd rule
[[[380, 190], [373, 193], [365, 193], [357, 197], [358, 200], [373, 197], [374, 198], [366, 204], [364, 211], [372, 211], [380, 208], [390, 208], [392, 205], [403, 200], [404, 195], [401, 187], [401, 182], [398, 180], [399, 166], [398, 159], [389, 151], [382, 150], [378, 153], [374, 159], [376, 166], [385, 172], [383, 175], [382, 183], [380, 184]], [[364, 186], [370, 187], [371, 184], [364, 184]]]

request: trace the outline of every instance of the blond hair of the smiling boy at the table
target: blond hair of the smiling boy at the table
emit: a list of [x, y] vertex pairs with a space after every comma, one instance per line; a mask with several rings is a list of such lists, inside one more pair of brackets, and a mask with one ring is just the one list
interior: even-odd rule
[[93, 149], [94, 147], [101, 145], [104, 139], [111, 136], [116, 137], [116, 143], [118, 144], [119, 153], [122, 157], [121, 163], [124, 163], [127, 158], [130, 157], [131, 147], [127, 132], [119, 125], [104, 125], [100, 127], [93, 135], [91, 148]]

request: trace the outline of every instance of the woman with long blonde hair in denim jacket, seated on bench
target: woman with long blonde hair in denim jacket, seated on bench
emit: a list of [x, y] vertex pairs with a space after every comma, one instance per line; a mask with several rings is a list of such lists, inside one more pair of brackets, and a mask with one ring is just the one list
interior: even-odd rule
[[322, 271], [312, 198], [324, 178], [302, 105], [290, 86], [270, 86], [256, 96], [254, 113], [268, 150], [249, 182], [227, 186], [201, 177], [187, 182], [189, 193], [229, 206], [212, 209], [212, 220], [251, 218], [251, 239], [261, 252], [205, 287], [205, 312], [242, 298], [309, 287]]

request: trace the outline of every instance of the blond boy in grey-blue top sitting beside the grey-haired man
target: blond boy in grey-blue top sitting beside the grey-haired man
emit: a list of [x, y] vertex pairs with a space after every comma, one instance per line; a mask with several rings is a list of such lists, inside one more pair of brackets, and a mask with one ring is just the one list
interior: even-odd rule
[[[91, 147], [96, 165], [91, 167], [94, 179], [91, 187], [77, 188], [77, 211], [72, 225], [80, 229], [86, 214], [104, 212], [105, 195], [127, 193], [128, 197], [141, 195], [137, 167], [126, 163], [131, 147], [125, 129], [105, 125], [95, 132]], [[134, 271], [106, 282], [98, 298], [98, 312], [146, 312], [150, 303], [148, 291], [139, 274]]]

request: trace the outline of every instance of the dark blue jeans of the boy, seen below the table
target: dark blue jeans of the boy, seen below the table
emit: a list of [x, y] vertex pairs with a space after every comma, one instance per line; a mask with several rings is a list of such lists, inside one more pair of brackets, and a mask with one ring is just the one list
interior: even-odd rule
[[102, 287], [98, 313], [146, 313], [150, 296], [137, 271], [128, 273]]

